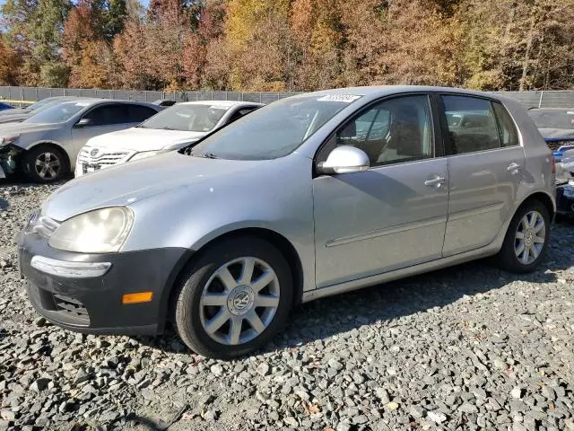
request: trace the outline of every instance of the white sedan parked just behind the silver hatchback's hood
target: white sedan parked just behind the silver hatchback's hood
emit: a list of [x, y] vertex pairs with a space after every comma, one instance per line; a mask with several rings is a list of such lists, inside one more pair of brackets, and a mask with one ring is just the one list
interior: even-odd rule
[[135, 128], [91, 138], [78, 154], [75, 176], [178, 150], [263, 106], [250, 101], [187, 101]]

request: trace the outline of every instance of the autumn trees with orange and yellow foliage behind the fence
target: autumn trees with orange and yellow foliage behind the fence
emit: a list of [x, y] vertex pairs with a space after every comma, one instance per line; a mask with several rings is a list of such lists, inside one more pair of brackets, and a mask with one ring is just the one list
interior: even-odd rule
[[0, 84], [574, 88], [571, 0], [152, 0], [147, 9], [7, 0], [2, 10]]

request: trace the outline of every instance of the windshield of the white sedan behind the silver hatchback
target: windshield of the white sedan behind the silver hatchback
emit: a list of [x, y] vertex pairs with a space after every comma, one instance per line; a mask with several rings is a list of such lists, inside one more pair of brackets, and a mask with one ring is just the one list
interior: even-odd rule
[[217, 104], [174, 105], [144, 121], [138, 128], [209, 132], [229, 109], [229, 106]]

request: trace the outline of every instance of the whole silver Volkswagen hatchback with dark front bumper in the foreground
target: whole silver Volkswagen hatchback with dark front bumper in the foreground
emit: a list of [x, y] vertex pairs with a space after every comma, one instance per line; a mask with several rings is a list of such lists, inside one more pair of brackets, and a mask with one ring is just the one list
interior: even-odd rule
[[[453, 112], [486, 115], [479, 133]], [[552, 154], [515, 101], [358, 87], [275, 101], [196, 145], [72, 180], [19, 239], [31, 303], [69, 330], [229, 358], [297, 303], [494, 256], [534, 270]]]

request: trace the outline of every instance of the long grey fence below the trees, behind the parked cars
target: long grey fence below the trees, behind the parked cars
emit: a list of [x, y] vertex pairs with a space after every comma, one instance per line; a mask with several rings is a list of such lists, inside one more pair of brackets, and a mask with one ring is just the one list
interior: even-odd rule
[[[525, 108], [574, 108], [574, 91], [498, 92], [520, 101]], [[100, 97], [128, 101], [258, 101], [270, 103], [297, 92], [146, 92], [0, 86], [0, 100], [26, 104], [52, 96]]]

